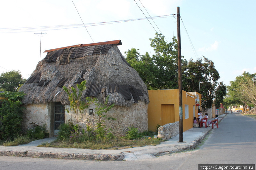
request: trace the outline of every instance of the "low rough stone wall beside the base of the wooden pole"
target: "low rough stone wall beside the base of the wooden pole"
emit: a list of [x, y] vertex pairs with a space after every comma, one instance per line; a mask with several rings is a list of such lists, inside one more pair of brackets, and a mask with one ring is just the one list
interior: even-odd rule
[[170, 139], [173, 136], [176, 136], [180, 132], [179, 128], [180, 122], [175, 122], [171, 124], [165, 124], [163, 126], [160, 126], [158, 128], [158, 135], [157, 138], [162, 138], [163, 140], [165, 139]]

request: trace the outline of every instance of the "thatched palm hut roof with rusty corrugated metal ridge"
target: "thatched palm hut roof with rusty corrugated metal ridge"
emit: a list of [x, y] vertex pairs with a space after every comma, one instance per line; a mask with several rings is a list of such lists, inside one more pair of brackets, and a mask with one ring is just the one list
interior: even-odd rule
[[117, 45], [122, 45], [121, 40], [46, 50], [46, 57], [20, 88], [27, 94], [22, 102], [69, 104], [62, 87], [76, 87], [86, 80], [84, 99], [97, 96], [103, 102], [109, 96], [108, 104], [148, 104], [145, 83], [125, 61]]

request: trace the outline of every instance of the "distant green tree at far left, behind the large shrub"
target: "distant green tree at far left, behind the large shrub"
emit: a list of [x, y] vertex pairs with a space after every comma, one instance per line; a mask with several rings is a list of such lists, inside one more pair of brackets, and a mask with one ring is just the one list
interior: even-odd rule
[[16, 92], [20, 84], [25, 83], [26, 79], [22, 78], [20, 71], [8, 71], [0, 76], [0, 89], [3, 91]]

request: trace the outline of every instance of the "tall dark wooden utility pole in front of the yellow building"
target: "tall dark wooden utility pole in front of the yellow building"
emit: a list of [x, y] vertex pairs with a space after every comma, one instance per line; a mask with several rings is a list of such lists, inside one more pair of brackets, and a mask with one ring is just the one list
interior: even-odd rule
[[180, 45], [180, 7], [177, 6], [178, 31], [178, 86], [179, 86], [179, 115], [180, 115], [180, 142], [183, 142], [183, 111], [182, 111], [182, 79], [181, 79], [181, 45]]

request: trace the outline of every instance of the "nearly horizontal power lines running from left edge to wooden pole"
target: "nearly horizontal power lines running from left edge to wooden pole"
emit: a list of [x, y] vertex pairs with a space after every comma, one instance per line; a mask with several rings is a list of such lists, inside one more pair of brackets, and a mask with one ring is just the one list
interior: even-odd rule
[[[170, 18], [174, 17], [176, 14], [169, 15], [161, 15], [156, 17], [151, 17], [154, 19], [158, 18]], [[88, 26], [98, 26], [98, 25], [108, 25], [108, 24], [117, 24], [122, 22], [130, 22], [130, 21], [138, 21], [144, 20], [147, 18], [136, 18], [136, 19], [126, 19], [126, 20], [118, 20], [118, 21], [108, 21], [108, 22], [99, 22], [99, 23], [88, 23], [88, 24], [73, 24], [73, 25], [52, 25], [52, 26], [40, 26], [40, 27], [17, 27], [17, 28], [0, 28], [0, 33], [20, 33], [20, 32], [34, 32], [34, 31], [51, 31], [51, 30], [61, 30], [61, 29], [72, 29], [72, 28], [81, 28], [84, 25]], [[13, 32], [6, 32], [13, 31]], [[17, 31], [17, 32], [15, 32]]]

